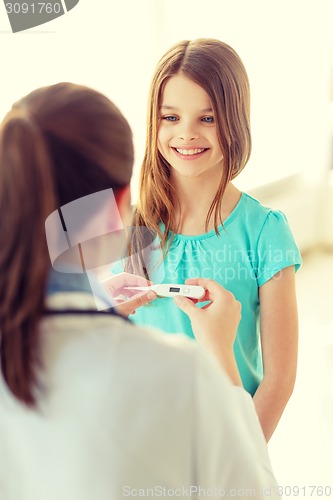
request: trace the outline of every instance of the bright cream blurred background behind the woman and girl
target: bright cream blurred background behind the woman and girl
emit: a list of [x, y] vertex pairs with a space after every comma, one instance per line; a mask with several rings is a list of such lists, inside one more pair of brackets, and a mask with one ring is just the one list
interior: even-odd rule
[[133, 130], [135, 203], [154, 67], [173, 43], [199, 37], [231, 45], [250, 79], [253, 153], [235, 184], [286, 213], [304, 259], [298, 380], [269, 445], [273, 467], [283, 487], [330, 485], [333, 497], [333, 2], [80, 0], [15, 35], [0, 7], [0, 117], [42, 85], [104, 92]]

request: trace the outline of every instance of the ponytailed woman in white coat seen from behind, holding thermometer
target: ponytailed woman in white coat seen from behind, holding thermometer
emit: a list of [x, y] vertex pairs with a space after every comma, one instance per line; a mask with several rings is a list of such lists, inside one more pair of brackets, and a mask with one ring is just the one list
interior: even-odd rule
[[[130, 220], [132, 163], [125, 118], [83, 86], [35, 90], [1, 125], [0, 498], [278, 498], [233, 356], [234, 297], [197, 279], [209, 307], [177, 299], [198, 346], [126, 319], [154, 295], [132, 298], [120, 315], [94, 283], [113, 246], [99, 237], [85, 249], [82, 234], [98, 226], [116, 238]], [[71, 203], [105, 190], [110, 198], [71, 224]], [[60, 229], [47, 245], [52, 214]], [[65, 264], [53, 252], [61, 238]], [[117, 280], [117, 293], [142, 284]]]

